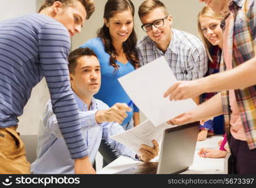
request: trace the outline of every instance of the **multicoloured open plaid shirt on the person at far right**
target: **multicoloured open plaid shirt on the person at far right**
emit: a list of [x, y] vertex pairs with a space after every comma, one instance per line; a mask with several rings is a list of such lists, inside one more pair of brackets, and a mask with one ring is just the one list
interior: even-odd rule
[[[233, 0], [229, 5], [235, 15], [234, 26], [229, 32], [233, 40], [232, 65], [236, 66], [254, 57], [253, 46], [256, 45], [256, 4], [255, 0]], [[221, 71], [226, 70], [225, 63], [221, 62]], [[230, 104], [228, 91], [221, 91], [226, 132], [230, 134]], [[237, 105], [247, 137], [249, 149], [256, 149], [256, 85], [235, 90]]]

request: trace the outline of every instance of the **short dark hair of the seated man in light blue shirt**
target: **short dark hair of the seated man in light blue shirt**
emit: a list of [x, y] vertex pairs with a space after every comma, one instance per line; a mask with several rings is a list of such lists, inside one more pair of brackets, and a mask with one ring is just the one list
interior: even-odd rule
[[82, 56], [96, 56], [97, 55], [90, 48], [77, 48], [70, 52], [67, 60], [69, 61], [69, 72], [75, 74], [75, 67], [77, 66], [77, 59]]

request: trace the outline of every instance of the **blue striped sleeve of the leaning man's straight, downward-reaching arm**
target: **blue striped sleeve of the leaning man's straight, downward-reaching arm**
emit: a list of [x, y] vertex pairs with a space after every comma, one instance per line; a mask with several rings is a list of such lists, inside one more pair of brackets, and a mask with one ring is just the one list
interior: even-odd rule
[[72, 159], [88, 155], [81, 133], [81, 122], [73, 92], [70, 88], [67, 55], [70, 36], [67, 29], [55, 21], [45, 24], [38, 31], [40, 68], [50, 91], [55, 113]]

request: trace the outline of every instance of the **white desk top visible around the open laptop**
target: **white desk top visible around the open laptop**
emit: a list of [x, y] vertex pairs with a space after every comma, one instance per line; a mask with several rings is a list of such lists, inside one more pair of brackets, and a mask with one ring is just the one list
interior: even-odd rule
[[[193, 164], [191, 167], [189, 167], [188, 170], [182, 172], [182, 174], [225, 174], [225, 159], [201, 158], [198, 155], [198, 151], [201, 149], [201, 147], [218, 149], [218, 141], [221, 139], [223, 139], [223, 137], [218, 135], [198, 142], [196, 144]], [[157, 157], [152, 161], [157, 161]], [[97, 174], [114, 174], [121, 170], [128, 169], [129, 167], [133, 167], [135, 164], [142, 164], [142, 162], [121, 155], [118, 157], [118, 159], [114, 160], [109, 165], [99, 170]]]

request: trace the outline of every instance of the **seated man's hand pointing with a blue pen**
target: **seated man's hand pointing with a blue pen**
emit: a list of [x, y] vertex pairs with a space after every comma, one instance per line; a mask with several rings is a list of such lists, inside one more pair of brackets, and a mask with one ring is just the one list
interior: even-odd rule
[[127, 117], [126, 112], [131, 112], [131, 108], [126, 103], [116, 103], [108, 110], [99, 110], [95, 114], [96, 122], [117, 122], [123, 123]]

